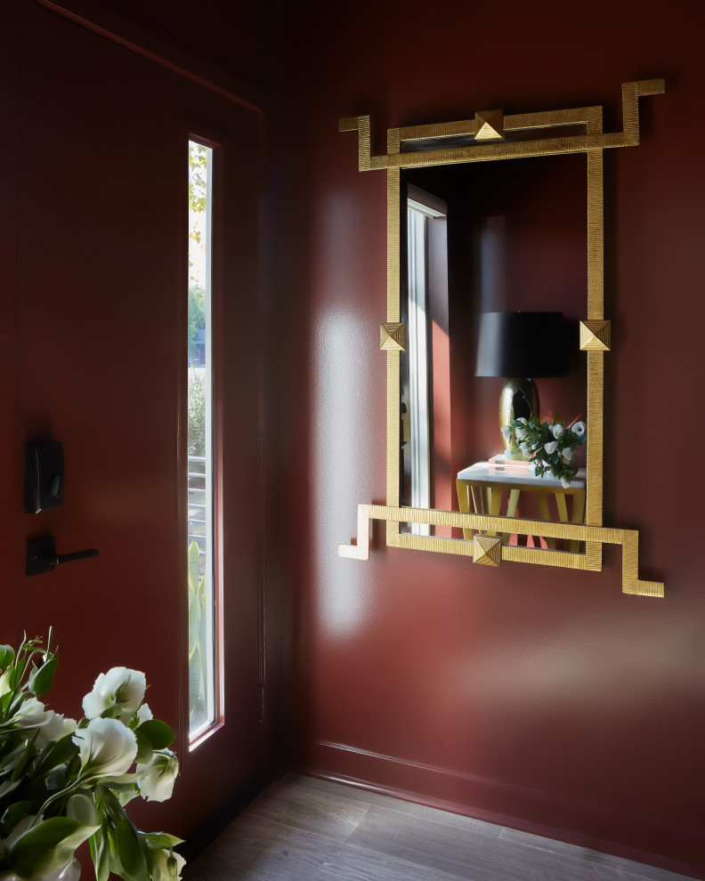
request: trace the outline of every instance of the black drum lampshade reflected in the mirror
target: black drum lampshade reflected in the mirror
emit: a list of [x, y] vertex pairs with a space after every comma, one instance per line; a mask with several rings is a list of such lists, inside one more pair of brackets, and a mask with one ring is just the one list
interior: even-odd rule
[[475, 376], [567, 376], [563, 312], [483, 312]]

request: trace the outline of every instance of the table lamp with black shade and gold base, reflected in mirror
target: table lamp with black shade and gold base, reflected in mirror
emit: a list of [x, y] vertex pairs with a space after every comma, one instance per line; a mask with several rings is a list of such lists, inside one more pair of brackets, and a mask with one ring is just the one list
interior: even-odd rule
[[533, 377], [568, 375], [565, 341], [563, 312], [482, 313], [475, 376], [506, 377], [499, 395], [500, 428], [521, 416], [540, 419]]

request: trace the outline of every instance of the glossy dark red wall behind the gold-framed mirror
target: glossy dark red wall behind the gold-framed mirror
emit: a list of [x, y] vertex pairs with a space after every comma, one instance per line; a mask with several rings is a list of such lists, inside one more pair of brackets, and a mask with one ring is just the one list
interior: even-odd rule
[[[342, 0], [288, 25], [281, 145], [292, 764], [702, 877], [705, 599], [696, 369], [703, 317], [701, 6]], [[298, 12], [298, 10], [297, 10]], [[641, 534], [642, 578], [385, 547], [341, 560], [385, 500], [385, 174], [337, 121], [385, 129], [640, 102], [606, 158], [604, 521]]]

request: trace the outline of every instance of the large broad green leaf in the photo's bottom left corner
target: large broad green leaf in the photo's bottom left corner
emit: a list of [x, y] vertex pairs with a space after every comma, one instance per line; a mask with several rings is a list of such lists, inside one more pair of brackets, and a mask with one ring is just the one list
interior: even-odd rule
[[7, 866], [15, 875], [34, 879], [58, 871], [73, 858], [78, 845], [97, 826], [84, 826], [68, 817], [52, 817], [28, 829], [8, 848]]

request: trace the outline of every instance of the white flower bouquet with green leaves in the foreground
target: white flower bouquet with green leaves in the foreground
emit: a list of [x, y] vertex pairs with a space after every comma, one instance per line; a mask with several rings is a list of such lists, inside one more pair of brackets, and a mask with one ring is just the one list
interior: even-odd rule
[[135, 796], [171, 796], [174, 731], [152, 718], [144, 674], [126, 667], [98, 676], [80, 721], [47, 709], [51, 638], [46, 649], [39, 639], [17, 652], [0, 645], [0, 879], [60, 871], [87, 839], [98, 881], [177, 881], [182, 839], [141, 832], [125, 811]]

